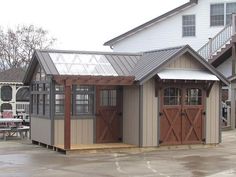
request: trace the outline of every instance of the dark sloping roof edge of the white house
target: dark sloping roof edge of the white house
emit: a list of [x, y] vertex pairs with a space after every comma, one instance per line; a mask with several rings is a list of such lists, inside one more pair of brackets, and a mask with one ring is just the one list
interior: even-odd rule
[[198, 0], [190, 0], [189, 2], [183, 4], [183, 5], [175, 8], [175, 9], [173, 9], [173, 10], [171, 10], [171, 11], [169, 11], [169, 12], [167, 12], [167, 13], [159, 16], [159, 17], [156, 17], [156, 18], [154, 18], [154, 19], [152, 19], [152, 20], [150, 20], [150, 21], [148, 21], [148, 22], [146, 22], [146, 23], [144, 23], [144, 24], [142, 24], [142, 25], [140, 25], [140, 26], [138, 26], [138, 27], [136, 27], [134, 29], [131, 29], [130, 31], [128, 31], [128, 32], [126, 32], [124, 34], [121, 34], [121, 35], [119, 35], [119, 36], [117, 36], [117, 37], [115, 37], [115, 38], [105, 42], [103, 45], [105, 45], [105, 46], [112, 46], [114, 43], [116, 43], [116, 42], [118, 42], [118, 41], [120, 41], [122, 39], [125, 39], [126, 37], [131, 36], [131, 35], [139, 32], [139, 31], [141, 31], [141, 30], [143, 30], [143, 29], [145, 29], [147, 27], [150, 27], [150, 26], [158, 23], [159, 21], [161, 21], [161, 20], [163, 20], [163, 19], [165, 19], [167, 17], [173, 16], [173, 15], [179, 13], [180, 11], [182, 11], [182, 10], [184, 10], [186, 8], [189, 8], [189, 7], [191, 7], [191, 6], [193, 6], [193, 5], [197, 4], [197, 3], [198, 3]]

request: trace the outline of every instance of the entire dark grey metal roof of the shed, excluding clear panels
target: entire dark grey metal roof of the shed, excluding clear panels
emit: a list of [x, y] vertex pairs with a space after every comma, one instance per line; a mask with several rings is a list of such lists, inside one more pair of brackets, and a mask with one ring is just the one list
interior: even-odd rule
[[[210, 65], [206, 60], [204, 60], [196, 51], [194, 51], [190, 46], [179, 46], [172, 47], [161, 50], [148, 51], [144, 53], [112, 53], [112, 52], [80, 52], [80, 51], [40, 51], [37, 50], [34, 53], [30, 66], [28, 67], [26, 76], [24, 78], [24, 83], [29, 83], [35, 67], [37, 64], [45, 70], [47, 75], [60, 75], [57, 71], [55, 63], [51, 58], [51, 53], [61, 53], [61, 54], [85, 54], [85, 55], [102, 55], [109, 62], [109, 65], [113, 67], [116, 76], [134, 76], [135, 81], [138, 81], [140, 84], [143, 84], [148, 79], [155, 76], [158, 71], [163, 69], [167, 64], [169, 64], [174, 59], [179, 56], [189, 53], [201, 63], [207, 70], [212, 74], [218, 77], [226, 85], [229, 81], [216, 69]], [[68, 56], [68, 55], [66, 55]], [[65, 57], [64, 59], [66, 59]], [[69, 59], [69, 58], [68, 58]], [[82, 61], [82, 60], [81, 60]], [[78, 61], [77, 61], [78, 62]], [[65, 64], [66, 67], [66, 64]], [[86, 67], [86, 66], [85, 66]], [[113, 71], [114, 71], [113, 70]], [[71, 75], [68, 73], [68, 75]], [[82, 76], [82, 75], [81, 75]]]

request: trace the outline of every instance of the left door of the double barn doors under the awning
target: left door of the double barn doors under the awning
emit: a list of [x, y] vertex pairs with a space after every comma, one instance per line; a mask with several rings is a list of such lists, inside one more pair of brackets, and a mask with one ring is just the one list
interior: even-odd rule
[[160, 144], [181, 144], [181, 89], [163, 90], [160, 115]]

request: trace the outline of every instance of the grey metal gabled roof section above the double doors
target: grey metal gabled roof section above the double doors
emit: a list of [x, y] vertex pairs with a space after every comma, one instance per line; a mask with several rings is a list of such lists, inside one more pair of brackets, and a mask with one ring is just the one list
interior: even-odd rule
[[229, 85], [229, 81], [189, 45], [143, 53], [137, 65], [131, 72], [131, 75], [135, 76], [136, 81], [139, 81], [140, 84], [143, 84], [145, 81], [155, 76], [171, 61], [185, 53], [192, 55], [195, 60], [201, 63], [208, 71], [219, 78], [224, 84]]

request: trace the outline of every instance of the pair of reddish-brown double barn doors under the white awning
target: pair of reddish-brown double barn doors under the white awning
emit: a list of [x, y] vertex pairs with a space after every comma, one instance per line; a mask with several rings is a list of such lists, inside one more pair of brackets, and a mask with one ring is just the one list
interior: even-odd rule
[[201, 87], [165, 87], [161, 91], [160, 145], [204, 141], [205, 91]]

